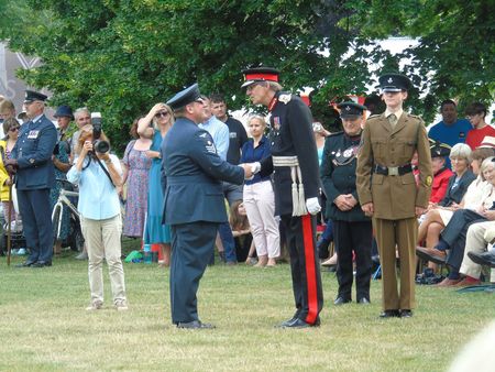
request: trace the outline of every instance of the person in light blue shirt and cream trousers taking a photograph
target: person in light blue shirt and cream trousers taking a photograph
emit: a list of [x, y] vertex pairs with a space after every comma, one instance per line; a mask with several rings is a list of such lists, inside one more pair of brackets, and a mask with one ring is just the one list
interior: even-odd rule
[[79, 185], [77, 210], [88, 251], [88, 276], [91, 293], [87, 310], [103, 306], [103, 256], [107, 260], [117, 310], [127, 310], [124, 273], [120, 236], [122, 219], [117, 187], [122, 184], [119, 158], [109, 153], [110, 143], [101, 130], [101, 116], [91, 114], [92, 125], [81, 128], [76, 152], [78, 157], [67, 179]]

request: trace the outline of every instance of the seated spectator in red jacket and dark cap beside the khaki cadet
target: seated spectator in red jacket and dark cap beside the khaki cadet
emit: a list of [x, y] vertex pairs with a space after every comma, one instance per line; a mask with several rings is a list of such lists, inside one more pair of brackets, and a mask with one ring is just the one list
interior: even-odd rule
[[[450, 154], [449, 145], [436, 142], [430, 146], [433, 184], [431, 185], [430, 207], [440, 203], [446, 196], [449, 179], [453, 173], [447, 167], [447, 156]], [[464, 167], [465, 171], [465, 167]]]

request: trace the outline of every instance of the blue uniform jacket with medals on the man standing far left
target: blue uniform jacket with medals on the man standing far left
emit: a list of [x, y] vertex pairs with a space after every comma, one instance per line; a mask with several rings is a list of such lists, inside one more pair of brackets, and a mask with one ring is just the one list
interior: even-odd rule
[[55, 169], [52, 154], [57, 142], [57, 131], [43, 114], [35, 122], [21, 125], [12, 157], [18, 161], [15, 186], [19, 190], [52, 188]]

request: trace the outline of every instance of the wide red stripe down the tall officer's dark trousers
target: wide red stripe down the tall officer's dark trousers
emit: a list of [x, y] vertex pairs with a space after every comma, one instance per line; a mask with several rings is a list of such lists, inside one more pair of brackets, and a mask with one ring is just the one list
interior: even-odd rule
[[301, 220], [305, 243], [306, 283], [308, 285], [308, 316], [306, 317], [306, 322], [312, 325], [318, 316], [318, 298], [311, 216], [302, 216]]

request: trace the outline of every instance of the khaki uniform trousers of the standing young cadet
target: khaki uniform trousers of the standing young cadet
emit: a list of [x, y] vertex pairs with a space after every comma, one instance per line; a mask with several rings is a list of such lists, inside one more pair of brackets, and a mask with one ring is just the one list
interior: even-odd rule
[[[373, 218], [382, 264], [382, 306], [384, 310], [413, 309], [415, 299], [416, 217], [386, 220]], [[396, 247], [400, 259], [400, 294], [397, 289]]]

